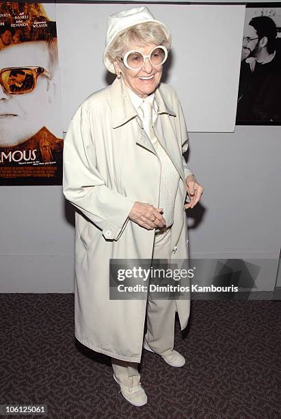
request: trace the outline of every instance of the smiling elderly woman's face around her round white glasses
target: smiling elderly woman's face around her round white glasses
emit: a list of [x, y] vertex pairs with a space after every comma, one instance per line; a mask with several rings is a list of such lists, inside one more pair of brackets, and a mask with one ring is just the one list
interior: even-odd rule
[[[157, 47], [155, 44], [148, 44], [145, 47], [133, 44], [129, 47], [128, 51], [134, 50], [148, 55], [155, 47]], [[130, 70], [118, 60], [113, 64], [116, 73], [121, 73], [121, 77], [123, 77], [126, 86], [129, 86], [139, 97], [148, 97], [159, 85], [163, 66], [152, 66], [148, 58], [146, 58], [144, 65], [139, 70]]]

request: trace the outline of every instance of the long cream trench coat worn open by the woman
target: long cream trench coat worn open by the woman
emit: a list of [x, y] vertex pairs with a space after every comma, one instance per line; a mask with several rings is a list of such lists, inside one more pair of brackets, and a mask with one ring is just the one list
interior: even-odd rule
[[[187, 259], [184, 210], [187, 129], [174, 88], [155, 92], [155, 132], [180, 174], [172, 225], [171, 259]], [[159, 206], [161, 164], [122, 79], [85, 99], [64, 141], [64, 196], [75, 213], [75, 337], [124, 361], [140, 362], [146, 300], [109, 299], [109, 259], [151, 259], [155, 230], [128, 216], [135, 201]], [[181, 329], [189, 299], [176, 300]]]

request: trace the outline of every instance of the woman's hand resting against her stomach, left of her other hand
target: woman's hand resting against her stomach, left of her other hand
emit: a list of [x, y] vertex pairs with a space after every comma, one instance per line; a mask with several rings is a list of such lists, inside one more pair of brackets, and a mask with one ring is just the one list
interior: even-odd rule
[[135, 201], [129, 219], [147, 230], [165, 227], [166, 221], [161, 214], [162, 211], [163, 208], [155, 208], [153, 205]]

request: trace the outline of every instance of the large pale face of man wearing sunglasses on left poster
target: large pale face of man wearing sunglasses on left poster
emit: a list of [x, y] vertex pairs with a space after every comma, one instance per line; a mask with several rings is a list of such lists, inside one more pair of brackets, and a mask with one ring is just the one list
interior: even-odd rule
[[[8, 67], [42, 66], [50, 71], [45, 41], [23, 42], [0, 51], [0, 70]], [[22, 81], [16, 81], [22, 83]], [[10, 84], [10, 81], [9, 81]], [[39, 75], [34, 90], [8, 94], [0, 85], [0, 147], [12, 147], [28, 140], [46, 125], [49, 113], [50, 80]]]

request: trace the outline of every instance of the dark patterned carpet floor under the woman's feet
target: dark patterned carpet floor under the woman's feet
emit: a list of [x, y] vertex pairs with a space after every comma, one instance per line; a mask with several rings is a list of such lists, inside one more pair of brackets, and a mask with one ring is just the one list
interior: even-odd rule
[[33, 417], [52, 419], [278, 419], [280, 307], [192, 301], [185, 336], [176, 320], [185, 366], [144, 351], [148, 404], [133, 407], [109, 358], [75, 339], [73, 294], [0, 294], [0, 404], [45, 404], [48, 415]]

